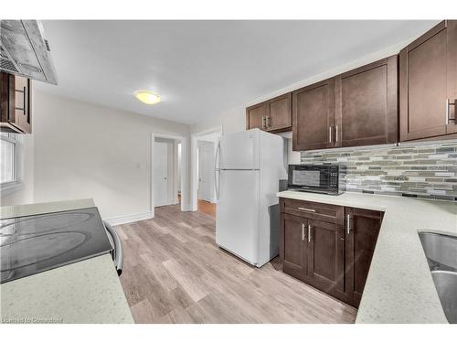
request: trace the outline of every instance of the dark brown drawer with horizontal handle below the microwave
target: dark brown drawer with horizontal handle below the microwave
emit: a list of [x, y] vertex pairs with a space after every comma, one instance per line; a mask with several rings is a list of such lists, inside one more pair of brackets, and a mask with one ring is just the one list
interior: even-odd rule
[[345, 208], [320, 202], [282, 198], [282, 212], [344, 225]]

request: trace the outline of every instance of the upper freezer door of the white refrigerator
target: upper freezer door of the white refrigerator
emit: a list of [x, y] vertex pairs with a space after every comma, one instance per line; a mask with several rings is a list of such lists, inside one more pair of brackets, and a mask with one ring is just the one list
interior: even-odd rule
[[220, 138], [219, 169], [259, 169], [260, 130], [254, 129]]

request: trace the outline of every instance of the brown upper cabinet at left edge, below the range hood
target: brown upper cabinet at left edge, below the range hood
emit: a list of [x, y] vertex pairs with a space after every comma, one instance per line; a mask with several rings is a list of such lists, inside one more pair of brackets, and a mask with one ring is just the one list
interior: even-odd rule
[[32, 132], [31, 85], [27, 78], [0, 73], [1, 131]]

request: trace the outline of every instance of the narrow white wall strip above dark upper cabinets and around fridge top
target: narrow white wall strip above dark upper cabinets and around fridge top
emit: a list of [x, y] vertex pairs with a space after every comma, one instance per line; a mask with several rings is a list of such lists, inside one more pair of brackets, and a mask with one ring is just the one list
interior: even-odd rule
[[[251, 99], [248, 102], [241, 103], [239, 104], [239, 106], [236, 106], [223, 113], [215, 113], [215, 115], [213, 115], [211, 118], [208, 118], [206, 121], [192, 125], [191, 134], [202, 132], [216, 126], [222, 126], [222, 131], [224, 134], [231, 134], [246, 130], [246, 107], [274, 98], [275, 96], [281, 95], [288, 91], [295, 91], [299, 88], [313, 84], [314, 82], [317, 82], [319, 80], [325, 80], [327, 78], [341, 74], [347, 70], [353, 70], [367, 63], [374, 62], [377, 59], [384, 59], [388, 56], [395, 55], [399, 53], [399, 50], [401, 48], [407, 46], [409, 42], [413, 39], [414, 38], [410, 38], [407, 41], [401, 42], [395, 46], [383, 48], [377, 51], [376, 53], [361, 57], [360, 59], [356, 59], [351, 63], [339, 66], [332, 70], [327, 70], [324, 73], [316, 74], [311, 78], [308, 78], [306, 80], [300, 80], [287, 87], [271, 91], [268, 94], [264, 94], [258, 98]], [[285, 136], [288, 139], [288, 141], [286, 142], [287, 151], [289, 153], [288, 163], [300, 163], [300, 154], [298, 152], [292, 151], [292, 134], [285, 134]]]

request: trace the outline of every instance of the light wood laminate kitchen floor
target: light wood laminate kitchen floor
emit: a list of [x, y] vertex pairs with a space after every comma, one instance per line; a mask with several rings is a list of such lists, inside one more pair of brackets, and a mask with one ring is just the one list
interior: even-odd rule
[[137, 323], [353, 323], [356, 309], [215, 242], [215, 220], [178, 206], [117, 226], [122, 287]]

